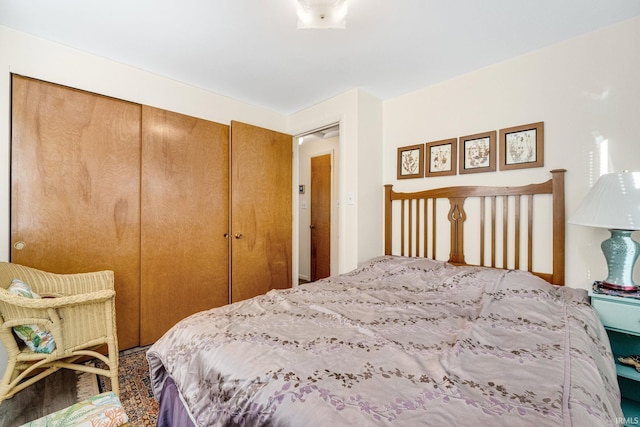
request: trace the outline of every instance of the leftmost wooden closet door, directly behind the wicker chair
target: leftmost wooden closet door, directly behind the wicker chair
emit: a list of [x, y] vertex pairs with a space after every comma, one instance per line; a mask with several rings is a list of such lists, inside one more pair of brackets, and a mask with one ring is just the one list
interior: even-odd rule
[[114, 270], [120, 348], [139, 339], [140, 106], [12, 78], [11, 261]]

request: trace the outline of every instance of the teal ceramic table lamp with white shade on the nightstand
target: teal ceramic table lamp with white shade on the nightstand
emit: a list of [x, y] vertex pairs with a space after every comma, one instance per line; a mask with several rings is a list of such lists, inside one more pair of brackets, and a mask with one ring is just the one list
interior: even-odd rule
[[637, 291], [633, 267], [640, 244], [631, 233], [640, 230], [640, 172], [602, 175], [569, 219], [570, 224], [608, 228], [611, 237], [602, 242], [609, 275], [602, 286]]

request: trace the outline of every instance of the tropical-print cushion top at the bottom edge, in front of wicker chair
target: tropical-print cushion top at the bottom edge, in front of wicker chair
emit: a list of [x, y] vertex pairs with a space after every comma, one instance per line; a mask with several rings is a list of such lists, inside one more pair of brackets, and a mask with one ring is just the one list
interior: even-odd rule
[[129, 421], [118, 396], [112, 391], [90, 397], [22, 427], [117, 427]]

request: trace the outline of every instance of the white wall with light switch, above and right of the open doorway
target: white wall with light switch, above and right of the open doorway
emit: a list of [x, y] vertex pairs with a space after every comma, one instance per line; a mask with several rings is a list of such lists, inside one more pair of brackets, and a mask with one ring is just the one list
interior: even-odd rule
[[382, 102], [352, 89], [292, 114], [288, 129], [297, 135], [334, 123], [340, 124], [337, 273], [345, 273], [383, 252]]

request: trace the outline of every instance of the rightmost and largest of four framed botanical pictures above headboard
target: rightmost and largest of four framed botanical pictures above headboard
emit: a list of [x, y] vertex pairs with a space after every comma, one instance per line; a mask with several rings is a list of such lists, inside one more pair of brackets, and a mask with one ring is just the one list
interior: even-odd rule
[[544, 122], [500, 129], [500, 170], [544, 166]]

